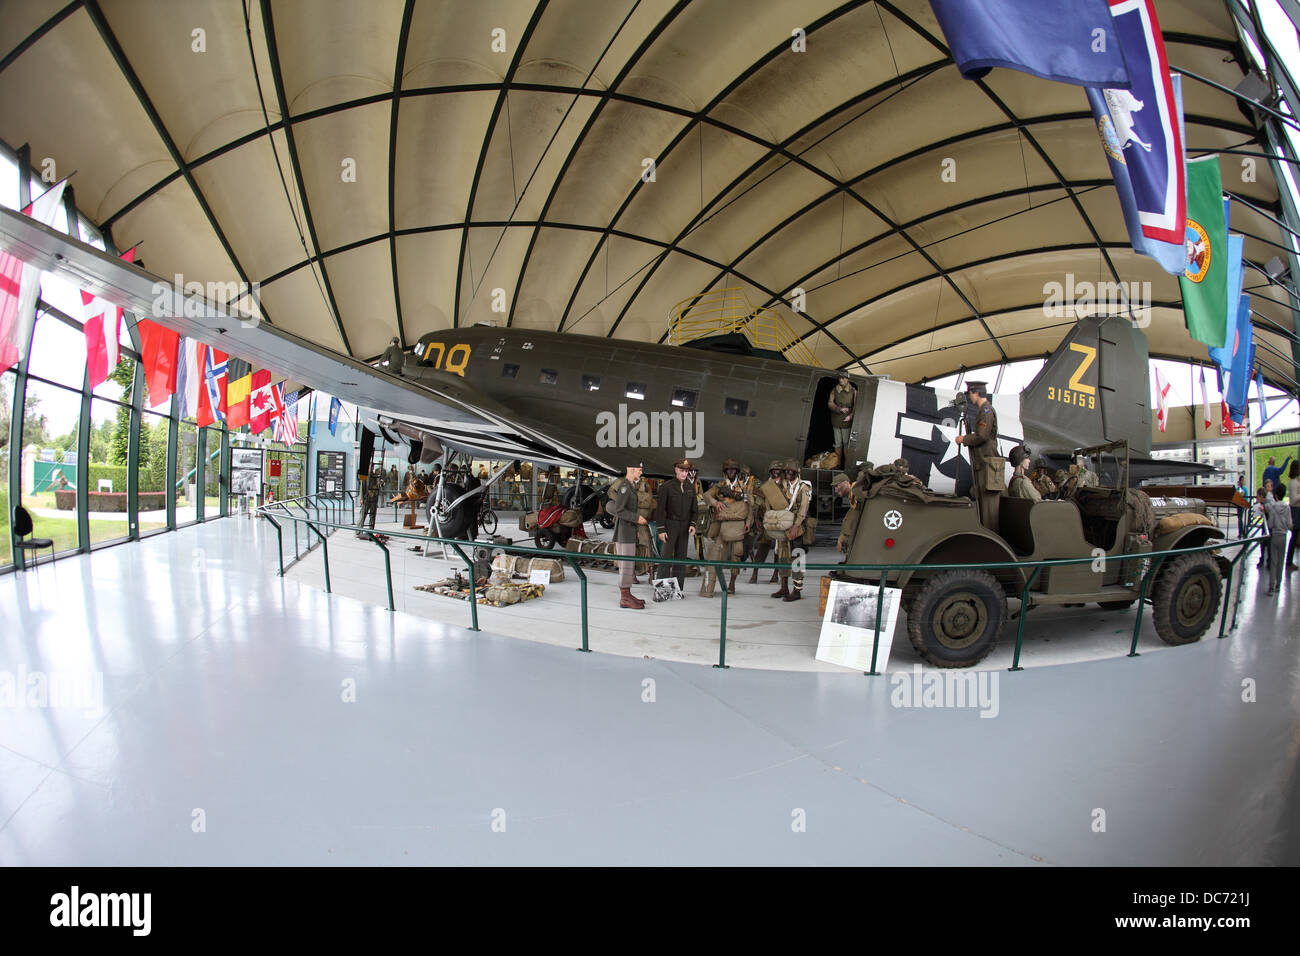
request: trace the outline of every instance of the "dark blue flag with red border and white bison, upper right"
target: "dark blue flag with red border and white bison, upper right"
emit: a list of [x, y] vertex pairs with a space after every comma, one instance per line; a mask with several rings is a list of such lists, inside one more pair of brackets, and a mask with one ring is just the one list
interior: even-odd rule
[[1132, 90], [1088, 88], [1092, 118], [1135, 252], [1176, 276], [1187, 265], [1182, 77], [1171, 77], [1149, 0], [1110, 0]]

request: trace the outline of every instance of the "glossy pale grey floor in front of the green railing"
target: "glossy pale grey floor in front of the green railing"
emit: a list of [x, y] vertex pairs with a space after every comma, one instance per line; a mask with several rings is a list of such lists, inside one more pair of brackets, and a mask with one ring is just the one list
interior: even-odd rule
[[0, 578], [0, 862], [1300, 862], [1300, 575], [1252, 568], [1226, 640], [901, 706], [909, 672], [391, 614], [273, 548], [226, 519]]

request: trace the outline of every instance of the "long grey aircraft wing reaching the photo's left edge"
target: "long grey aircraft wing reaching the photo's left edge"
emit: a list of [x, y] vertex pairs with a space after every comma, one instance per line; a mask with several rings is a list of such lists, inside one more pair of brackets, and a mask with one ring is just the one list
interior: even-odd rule
[[257, 317], [226, 312], [136, 265], [3, 207], [0, 250], [259, 368], [294, 381], [329, 382], [330, 394], [376, 410], [378, 424], [411, 437], [433, 437], [484, 458], [615, 471], [578, 450], [584, 444], [578, 436], [559, 433], [506, 408], [456, 375], [425, 368], [417, 371], [419, 378], [389, 375]]

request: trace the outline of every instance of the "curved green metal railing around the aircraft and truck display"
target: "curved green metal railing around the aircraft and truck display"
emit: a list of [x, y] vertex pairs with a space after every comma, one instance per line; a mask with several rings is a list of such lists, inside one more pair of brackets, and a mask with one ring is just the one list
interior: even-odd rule
[[[355, 493], [347, 492], [346, 494], [355, 494]], [[526, 545], [514, 545], [514, 544], [511, 544], [511, 545], [500, 545], [500, 544], [491, 544], [491, 542], [464, 541], [464, 540], [460, 540], [460, 538], [441, 538], [441, 537], [433, 537], [433, 536], [429, 536], [429, 535], [417, 533], [417, 532], [407, 532], [407, 531], [384, 531], [384, 532], [377, 532], [377, 531], [373, 531], [370, 528], [363, 528], [363, 527], [358, 527], [358, 525], [354, 525], [354, 524], [342, 524], [342, 523], [338, 523], [338, 522], [330, 522], [330, 520], [328, 520], [329, 515], [326, 515], [326, 520], [322, 520], [318, 514], [316, 516], [309, 516], [308, 512], [307, 512], [307, 507], [311, 505], [311, 502], [308, 499], [311, 499], [313, 497], [316, 497], [316, 496], [304, 496], [303, 498], [292, 498], [292, 499], [287, 499], [287, 501], [273, 502], [270, 505], [264, 505], [263, 507], [257, 509], [257, 514], [260, 514], [260, 515], [265, 516], [268, 520], [270, 520], [270, 523], [276, 528], [277, 536], [280, 538], [280, 549], [278, 549], [278, 551], [280, 551], [280, 574], [281, 574], [281, 576], [283, 576], [283, 574], [285, 574], [283, 535], [282, 535], [280, 520], [277, 520], [277, 519], [287, 519], [287, 520], [291, 520], [291, 522], [295, 523], [295, 536], [294, 536], [295, 537], [295, 558], [294, 558], [294, 562], [290, 562], [290, 567], [292, 567], [292, 563], [295, 563], [296, 561], [299, 561], [300, 557], [306, 557], [307, 553], [311, 553], [311, 548], [308, 548], [307, 553], [304, 553], [303, 555], [298, 555], [298, 553], [296, 553], [296, 537], [298, 537], [296, 536], [296, 523], [299, 523], [299, 522], [304, 523], [312, 532], [315, 532], [318, 536], [320, 544], [322, 545], [321, 546], [321, 551], [322, 551], [322, 557], [324, 557], [324, 562], [325, 562], [325, 591], [326, 592], [330, 591], [329, 550], [328, 550], [328, 548], [325, 548], [325, 538], [326, 538], [326, 536], [328, 536], [329, 532], [334, 532], [334, 531], [351, 531], [351, 532], [356, 532], [361, 537], [368, 537], [370, 541], [373, 541], [376, 545], [378, 545], [382, 549], [382, 551], [384, 551], [384, 572], [385, 572], [385, 578], [387, 580], [387, 588], [389, 588], [389, 610], [390, 611], [395, 611], [396, 610], [396, 602], [394, 601], [394, 596], [393, 596], [393, 564], [391, 564], [391, 561], [390, 561], [389, 549], [384, 545], [382, 541], [380, 541], [377, 538], [377, 535], [384, 535], [385, 537], [389, 537], [389, 538], [408, 538], [408, 540], [412, 540], [412, 541], [419, 541], [419, 542], [425, 544], [425, 545], [432, 545], [432, 544], [442, 545], [443, 554], [447, 553], [447, 548], [451, 548], [452, 550], [456, 551], [458, 555], [460, 555], [460, 559], [463, 562], [465, 562], [465, 567], [467, 567], [468, 576], [469, 576], [469, 607], [471, 607], [471, 627], [469, 627], [469, 630], [471, 631], [478, 631], [480, 630], [478, 628], [478, 602], [477, 602], [477, 593], [478, 592], [477, 592], [477, 584], [476, 584], [476, 580], [474, 580], [474, 562], [473, 562], [473, 558], [471, 555], [467, 555], [465, 551], [464, 551], [464, 548], [467, 545], [469, 548], [472, 548], [472, 549], [473, 548], [485, 548], [488, 550], [503, 551], [503, 553], [508, 553], [511, 555], [520, 555], [520, 557], [523, 557], [523, 555], [533, 555], [533, 557], [552, 558], [552, 559], [558, 558], [558, 559], [564, 561], [573, 570], [573, 572], [577, 576], [578, 583], [581, 585], [582, 646], [580, 646], [577, 649], [581, 650], [581, 652], [584, 652], [584, 653], [590, 652], [590, 635], [589, 635], [589, 626], [588, 626], [588, 580], [586, 580], [586, 574], [581, 568], [581, 563], [584, 563], [584, 562], [592, 562], [592, 561], [602, 561], [602, 562], [603, 561], [612, 561], [612, 562], [630, 561], [630, 562], [634, 562], [634, 563], [653, 563], [655, 567], [659, 567], [659, 566], [668, 567], [668, 566], [677, 566], [677, 564], [680, 564], [682, 567], [699, 567], [699, 568], [712, 567], [718, 572], [719, 584], [722, 584], [722, 578], [723, 578], [722, 571], [725, 570], [725, 568], [744, 568], [744, 567], [753, 568], [753, 567], [758, 567], [751, 561], [708, 561], [706, 558], [660, 558], [660, 557], [654, 557], [654, 555], [649, 555], [647, 557], [647, 555], [634, 555], [634, 554], [633, 555], [623, 555], [623, 554], [599, 554], [599, 555], [595, 555], [595, 554], [581, 554], [581, 553], [575, 553], [575, 551], [556, 551], [556, 550], [549, 550], [549, 549], [543, 549], [543, 548], [530, 548], [530, 546], [526, 546]], [[351, 503], [355, 506], [355, 498], [352, 499]], [[291, 514], [289, 511], [289, 506], [291, 506], [291, 505], [302, 507], [303, 509], [303, 515], [299, 516], [299, 515]], [[325, 533], [322, 533], [322, 529], [325, 529]], [[1149, 553], [1145, 553], [1145, 554], [1135, 554], [1135, 555], [1117, 555], [1115, 558], [1113, 558], [1114, 561], [1140, 561], [1140, 562], [1145, 562], [1147, 563], [1145, 571], [1143, 572], [1143, 578], [1141, 578], [1141, 584], [1140, 584], [1140, 589], [1139, 589], [1139, 597], [1136, 598], [1138, 613], [1134, 615], [1132, 641], [1130, 644], [1127, 657], [1139, 657], [1139, 653], [1138, 653], [1138, 640], [1139, 640], [1139, 636], [1141, 633], [1143, 610], [1144, 610], [1145, 604], [1147, 604], [1147, 593], [1149, 591], [1152, 580], [1154, 579], [1156, 574], [1158, 572], [1160, 567], [1164, 564], [1164, 562], [1165, 562], [1166, 558], [1178, 557], [1178, 555], [1183, 555], [1183, 554], [1199, 554], [1199, 553], [1202, 553], [1202, 551], [1219, 551], [1219, 550], [1226, 550], [1226, 549], [1230, 549], [1230, 548], [1235, 548], [1236, 549], [1236, 555], [1232, 557], [1232, 558], [1230, 558], [1230, 559], [1227, 559], [1228, 561], [1228, 572], [1227, 572], [1227, 576], [1223, 579], [1223, 585], [1222, 585], [1223, 591], [1221, 593], [1221, 611], [1219, 611], [1219, 618], [1221, 619], [1219, 619], [1219, 632], [1218, 632], [1218, 636], [1219, 636], [1219, 639], [1222, 639], [1222, 637], [1225, 637], [1227, 635], [1227, 631], [1235, 631], [1236, 630], [1236, 613], [1238, 613], [1238, 609], [1240, 607], [1240, 604], [1242, 604], [1242, 581], [1243, 581], [1243, 579], [1245, 576], [1244, 574], [1238, 574], [1240, 562], [1242, 562], [1242, 559], [1247, 554], [1249, 554], [1254, 549], [1254, 546], [1257, 544], [1264, 542], [1264, 541], [1268, 541], [1268, 535], [1260, 535], [1257, 537], [1245, 537], [1245, 538], [1230, 538], [1230, 540], [1217, 541], [1214, 544], [1199, 545], [1196, 548], [1180, 548], [1180, 549], [1170, 550], [1170, 551], [1149, 551]], [[907, 571], [928, 571], [928, 572], [933, 572], [933, 571], [972, 571], [972, 570], [974, 571], [997, 571], [997, 570], [1006, 570], [1006, 568], [1031, 568], [1032, 567], [1032, 571], [1024, 579], [1024, 584], [1022, 585], [1020, 593], [1019, 593], [1020, 609], [1017, 613], [1017, 615], [1018, 615], [1018, 623], [1017, 623], [1017, 631], [1015, 631], [1015, 652], [1014, 652], [1014, 656], [1013, 656], [1013, 659], [1011, 659], [1011, 666], [1008, 669], [1008, 670], [1011, 670], [1011, 671], [1019, 671], [1019, 670], [1024, 670], [1023, 667], [1020, 667], [1020, 652], [1022, 652], [1023, 644], [1024, 644], [1024, 620], [1028, 617], [1028, 611], [1032, 607], [1039, 606], [1039, 605], [1034, 605], [1030, 601], [1030, 589], [1034, 587], [1034, 583], [1037, 580], [1039, 574], [1045, 567], [1063, 567], [1063, 566], [1071, 566], [1071, 564], [1091, 564], [1095, 561], [1096, 561], [1096, 558], [1092, 557], [1092, 555], [1088, 555], [1086, 558], [1052, 558], [1052, 559], [1032, 561], [1032, 562], [1031, 561], [1001, 561], [1001, 562], [989, 562], [989, 563], [971, 563], [971, 562], [966, 562], [966, 563], [942, 563], [942, 564], [939, 564], [939, 563], [926, 563], [926, 564], [842, 564], [842, 563], [833, 563], [833, 564], [831, 564], [831, 563], [820, 563], [820, 562], [819, 563], [812, 563], [812, 562], [798, 562], [798, 561], [796, 561], [796, 562], [784, 563], [784, 564], [783, 563], [774, 563], [774, 562], [764, 562], [762, 564], [762, 568], [764, 571], [767, 568], [772, 568], [774, 571], [779, 571], [779, 572], [783, 572], [783, 574], [790, 572], [793, 570], [800, 570], [800, 571], [805, 571], [805, 572], [806, 571], [836, 571], [836, 572], [842, 574], [845, 571], [853, 571], [853, 572], [862, 572], [862, 574], [872, 575], [872, 576], [874, 575], [879, 575], [879, 583], [876, 585], [876, 627], [875, 627], [875, 637], [872, 640], [872, 648], [871, 648], [871, 670], [864, 671], [864, 674], [876, 676], [876, 675], [879, 675], [879, 671], [876, 670], [876, 662], [879, 659], [879, 652], [880, 652], [880, 626], [881, 626], [881, 619], [883, 619], [883, 613], [884, 613], [884, 589], [887, 587], [887, 583], [888, 583], [888, 579], [889, 579], [890, 575], [897, 575], [897, 574], [902, 574], [902, 572], [907, 572]], [[858, 581], [855, 579], [850, 579], [850, 580], [853, 583], [861, 583], [861, 581]], [[1236, 583], [1235, 588], [1234, 588], [1234, 580]], [[727, 665], [727, 588], [725, 588], [725, 585], [720, 587], [719, 591], [722, 593], [722, 609], [720, 609], [719, 628], [718, 628], [718, 639], [719, 639], [718, 663], [715, 663], [714, 667], [727, 669], [728, 665]], [[1228, 618], [1227, 618], [1227, 613], [1228, 613], [1228, 606], [1227, 605], [1228, 605], [1230, 597], [1231, 597], [1231, 604], [1232, 604], [1232, 622], [1231, 622], [1231, 624], [1228, 624]]]

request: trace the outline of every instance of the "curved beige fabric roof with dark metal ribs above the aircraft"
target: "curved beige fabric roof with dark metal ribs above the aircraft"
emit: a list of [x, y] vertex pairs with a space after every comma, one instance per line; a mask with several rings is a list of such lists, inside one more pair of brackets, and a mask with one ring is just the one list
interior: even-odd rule
[[[1268, 148], [1191, 78], [1245, 75], [1230, 3], [1157, 1], [1192, 156]], [[673, 303], [738, 286], [822, 364], [915, 380], [1049, 351], [1067, 274], [1149, 282], [1152, 354], [1205, 358], [1128, 246], [1083, 90], [962, 79], [927, 0], [29, 0], [0, 34], [25, 38], [0, 138], [77, 169], [118, 247], [257, 282], [272, 323], [358, 358], [474, 321], [660, 341]], [[1286, 215], [1248, 159], [1222, 169], [1262, 265]]]

